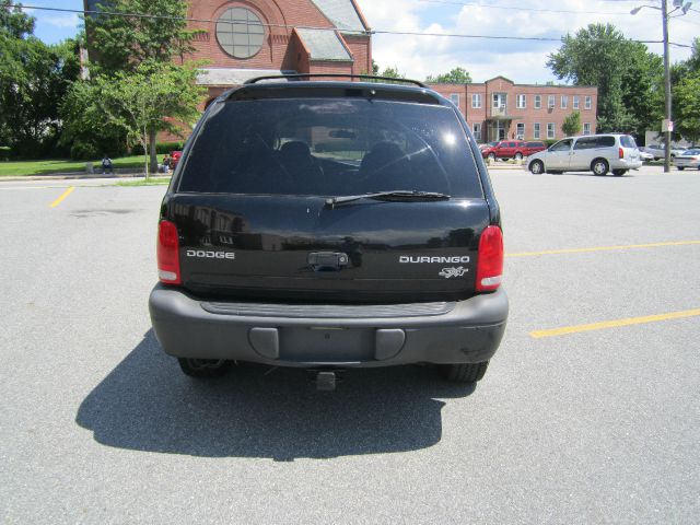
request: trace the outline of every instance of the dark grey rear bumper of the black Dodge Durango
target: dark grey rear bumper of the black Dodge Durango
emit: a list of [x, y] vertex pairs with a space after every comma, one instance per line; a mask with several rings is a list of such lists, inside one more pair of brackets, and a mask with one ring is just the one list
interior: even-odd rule
[[212, 303], [159, 284], [149, 299], [171, 355], [304, 368], [488, 361], [508, 308], [503, 290], [453, 303], [342, 306]]

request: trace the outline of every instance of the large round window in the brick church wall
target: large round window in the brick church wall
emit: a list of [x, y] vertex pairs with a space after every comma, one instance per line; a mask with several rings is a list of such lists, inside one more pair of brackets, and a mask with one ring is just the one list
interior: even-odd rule
[[245, 8], [230, 8], [217, 21], [217, 40], [234, 58], [250, 58], [262, 47], [265, 28], [260, 19]]

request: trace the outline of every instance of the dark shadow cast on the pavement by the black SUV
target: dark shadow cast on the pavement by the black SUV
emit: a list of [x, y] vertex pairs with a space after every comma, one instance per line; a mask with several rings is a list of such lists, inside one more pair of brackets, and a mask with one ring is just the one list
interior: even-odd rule
[[75, 420], [98, 443], [119, 448], [285, 462], [432, 446], [444, 406], [434, 397], [472, 392], [418, 366], [349, 371], [332, 393], [316, 392], [304, 370], [258, 365], [198, 382], [149, 330]]

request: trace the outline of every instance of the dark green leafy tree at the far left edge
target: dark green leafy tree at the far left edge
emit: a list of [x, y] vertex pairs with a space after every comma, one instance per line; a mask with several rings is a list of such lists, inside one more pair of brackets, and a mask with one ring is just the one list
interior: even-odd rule
[[33, 31], [34, 19], [0, 0], [0, 142], [25, 156], [55, 148], [59, 101], [80, 74], [74, 40], [47, 46]]

